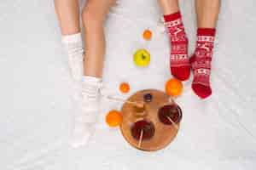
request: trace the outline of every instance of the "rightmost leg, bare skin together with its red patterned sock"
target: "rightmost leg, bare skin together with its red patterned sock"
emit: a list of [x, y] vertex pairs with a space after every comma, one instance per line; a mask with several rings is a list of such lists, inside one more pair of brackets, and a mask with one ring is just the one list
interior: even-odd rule
[[195, 0], [197, 15], [197, 43], [190, 59], [194, 71], [192, 89], [201, 99], [212, 94], [210, 84], [212, 48], [217, 25], [220, 0]]

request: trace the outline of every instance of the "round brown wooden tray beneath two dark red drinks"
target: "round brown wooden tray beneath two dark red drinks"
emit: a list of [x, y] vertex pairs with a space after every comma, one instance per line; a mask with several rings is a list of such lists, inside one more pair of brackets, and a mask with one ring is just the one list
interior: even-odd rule
[[[144, 102], [144, 95], [151, 94], [152, 100]], [[158, 117], [159, 109], [164, 105], [173, 105], [172, 99], [159, 90], [148, 89], [139, 91], [133, 94], [127, 101], [144, 103], [143, 114], [137, 113], [135, 105], [125, 102], [122, 107], [123, 121], [121, 122], [120, 129], [125, 140], [133, 147], [139, 150], [160, 150], [165, 148], [168, 144], [175, 139], [178, 129], [173, 125], [166, 125], [160, 122]], [[181, 113], [182, 114], [182, 113]], [[131, 134], [131, 127], [134, 122], [146, 120], [154, 124], [154, 136], [151, 139], [145, 139], [139, 144], [137, 139], [134, 139]], [[180, 122], [177, 122], [179, 128]]]

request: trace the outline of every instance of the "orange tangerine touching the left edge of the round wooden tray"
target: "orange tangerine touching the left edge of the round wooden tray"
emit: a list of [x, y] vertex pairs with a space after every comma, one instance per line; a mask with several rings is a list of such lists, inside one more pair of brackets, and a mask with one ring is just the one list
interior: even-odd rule
[[122, 116], [119, 111], [109, 111], [106, 116], [106, 122], [109, 127], [117, 127], [122, 122]]

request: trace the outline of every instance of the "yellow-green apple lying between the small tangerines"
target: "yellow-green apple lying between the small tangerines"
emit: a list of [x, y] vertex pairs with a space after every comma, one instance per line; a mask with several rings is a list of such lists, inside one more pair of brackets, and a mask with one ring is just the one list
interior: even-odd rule
[[138, 49], [133, 55], [133, 61], [137, 66], [148, 66], [150, 63], [150, 54], [146, 49]]

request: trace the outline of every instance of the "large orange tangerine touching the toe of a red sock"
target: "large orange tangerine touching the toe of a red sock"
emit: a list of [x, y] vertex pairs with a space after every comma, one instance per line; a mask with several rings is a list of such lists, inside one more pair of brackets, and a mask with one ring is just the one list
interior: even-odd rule
[[183, 92], [183, 83], [176, 78], [170, 79], [166, 82], [166, 94], [177, 97]]

